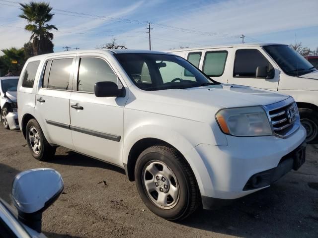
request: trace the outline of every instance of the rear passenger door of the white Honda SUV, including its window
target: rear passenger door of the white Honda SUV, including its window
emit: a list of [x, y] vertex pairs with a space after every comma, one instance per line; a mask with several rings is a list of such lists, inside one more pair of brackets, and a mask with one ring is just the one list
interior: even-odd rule
[[53, 144], [74, 150], [70, 126], [70, 95], [75, 57], [50, 59], [36, 95], [35, 111]]

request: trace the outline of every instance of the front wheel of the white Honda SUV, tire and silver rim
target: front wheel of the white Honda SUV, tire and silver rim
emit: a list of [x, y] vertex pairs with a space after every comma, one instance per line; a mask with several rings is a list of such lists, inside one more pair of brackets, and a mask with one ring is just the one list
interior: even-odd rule
[[135, 179], [145, 205], [156, 215], [182, 220], [200, 201], [194, 174], [183, 156], [167, 146], [151, 146], [137, 159]]

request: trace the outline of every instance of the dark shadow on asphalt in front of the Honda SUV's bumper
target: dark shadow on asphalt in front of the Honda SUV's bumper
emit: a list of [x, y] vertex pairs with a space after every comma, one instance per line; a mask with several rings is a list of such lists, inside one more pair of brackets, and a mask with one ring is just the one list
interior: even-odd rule
[[[290, 184], [298, 184], [291, 181]], [[309, 184], [306, 184], [308, 190]], [[180, 224], [239, 237], [317, 237], [318, 193], [304, 199], [293, 186], [273, 186], [215, 211], [198, 210]]]

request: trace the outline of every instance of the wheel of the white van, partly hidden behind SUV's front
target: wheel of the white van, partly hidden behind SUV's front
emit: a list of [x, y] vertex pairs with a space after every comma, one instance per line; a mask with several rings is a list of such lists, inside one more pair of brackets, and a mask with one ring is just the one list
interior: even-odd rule
[[313, 143], [318, 139], [318, 113], [312, 109], [300, 108], [300, 120], [307, 132], [306, 141]]

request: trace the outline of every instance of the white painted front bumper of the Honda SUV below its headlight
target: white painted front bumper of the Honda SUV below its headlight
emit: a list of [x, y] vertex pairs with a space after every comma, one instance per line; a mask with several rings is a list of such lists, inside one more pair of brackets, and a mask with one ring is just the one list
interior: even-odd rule
[[[200, 193], [204, 198], [204, 208], [207, 208], [204, 200], [208, 198], [236, 199], [269, 186], [272, 179], [265, 186], [244, 189], [253, 175], [278, 167], [282, 158], [298, 148], [305, 139], [306, 130], [300, 126], [285, 139], [276, 136], [227, 136], [228, 146], [196, 146], [187, 156], [197, 157], [191, 167], [194, 167]], [[287, 167], [286, 173], [291, 169]], [[281, 176], [286, 173], [284, 171]]]

